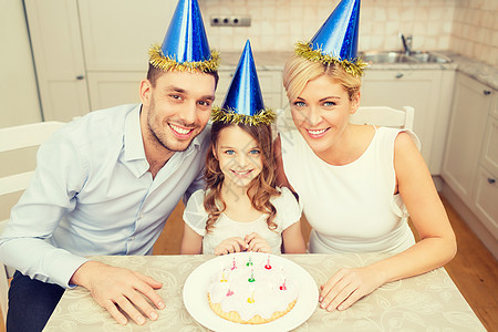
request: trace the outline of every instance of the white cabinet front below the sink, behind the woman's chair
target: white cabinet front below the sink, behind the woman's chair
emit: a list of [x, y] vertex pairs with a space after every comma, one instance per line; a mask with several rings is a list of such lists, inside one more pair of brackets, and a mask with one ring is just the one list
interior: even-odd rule
[[433, 175], [439, 173], [439, 165], [433, 165], [430, 156], [436, 131], [440, 76], [440, 71], [367, 71], [363, 79], [361, 101], [363, 106], [415, 108], [414, 132], [421, 138], [422, 156]]

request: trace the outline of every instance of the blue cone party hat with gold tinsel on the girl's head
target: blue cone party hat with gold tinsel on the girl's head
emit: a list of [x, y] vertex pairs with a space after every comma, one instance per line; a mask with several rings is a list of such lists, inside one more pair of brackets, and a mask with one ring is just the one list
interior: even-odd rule
[[212, 110], [211, 118], [214, 122], [250, 125], [267, 125], [276, 118], [270, 108], [264, 108], [249, 40], [246, 42], [222, 106]]

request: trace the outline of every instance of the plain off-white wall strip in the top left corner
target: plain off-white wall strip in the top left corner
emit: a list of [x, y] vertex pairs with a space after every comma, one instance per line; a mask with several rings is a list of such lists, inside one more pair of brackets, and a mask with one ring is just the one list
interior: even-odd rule
[[0, 0], [0, 127], [41, 121], [22, 0]]

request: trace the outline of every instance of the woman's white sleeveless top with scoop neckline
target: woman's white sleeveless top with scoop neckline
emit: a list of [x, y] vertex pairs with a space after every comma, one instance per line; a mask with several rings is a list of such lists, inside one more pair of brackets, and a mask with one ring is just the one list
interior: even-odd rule
[[[333, 166], [319, 158], [292, 126], [279, 126], [283, 168], [312, 227], [310, 252], [401, 252], [415, 243], [408, 212], [393, 195], [394, 139], [380, 127], [354, 162]], [[419, 141], [407, 132], [419, 147]]]

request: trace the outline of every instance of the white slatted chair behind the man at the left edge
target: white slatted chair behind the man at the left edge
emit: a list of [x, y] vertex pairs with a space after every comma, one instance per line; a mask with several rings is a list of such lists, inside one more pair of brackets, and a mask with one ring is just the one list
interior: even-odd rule
[[[63, 122], [40, 122], [0, 128], [0, 234], [9, 221], [10, 209], [28, 187], [37, 167], [37, 151]], [[8, 279], [13, 270], [0, 262], [0, 309], [7, 318]]]

